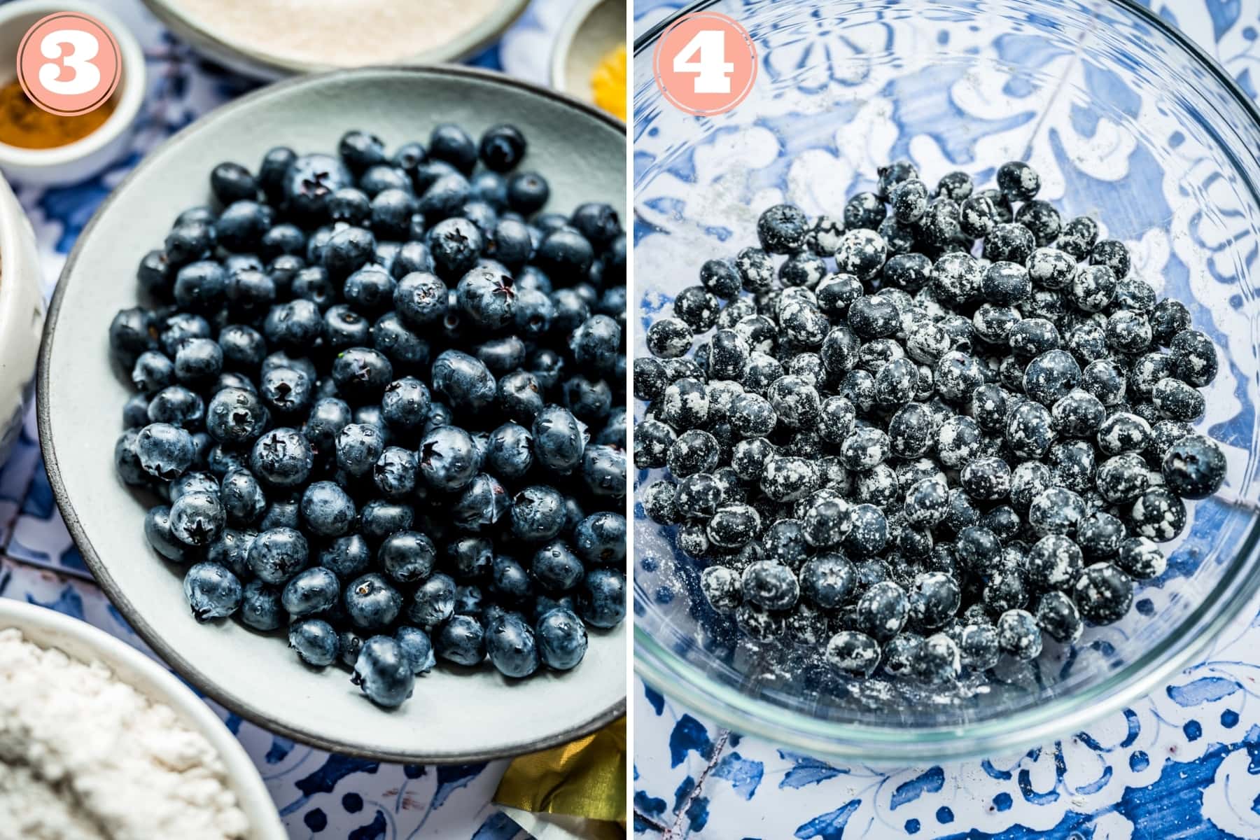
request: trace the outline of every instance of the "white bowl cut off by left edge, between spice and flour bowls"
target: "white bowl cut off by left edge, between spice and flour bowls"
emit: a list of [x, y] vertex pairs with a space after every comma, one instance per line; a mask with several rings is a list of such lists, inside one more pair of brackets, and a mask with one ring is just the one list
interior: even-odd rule
[[35, 232], [0, 176], [0, 463], [9, 457], [35, 382], [44, 295]]

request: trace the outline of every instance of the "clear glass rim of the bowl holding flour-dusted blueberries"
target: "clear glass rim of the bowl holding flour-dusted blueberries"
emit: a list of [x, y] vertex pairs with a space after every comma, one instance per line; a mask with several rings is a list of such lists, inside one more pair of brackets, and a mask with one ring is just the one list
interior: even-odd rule
[[[639, 58], [654, 48], [656, 39], [680, 16], [701, 11], [721, 0], [697, 0], [675, 14], [656, 23], [635, 39], [634, 54]], [[1162, 18], [1134, 0], [1106, 0], [1121, 10], [1137, 16], [1160, 34], [1169, 38], [1186, 54], [1198, 60], [1201, 67], [1216, 77], [1246, 113], [1251, 116], [1260, 130], [1260, 107], [1246, 94], [1237, 82], [1216, 59], [1205, 53], [1198, 44], [1186, 37], [1179, 29], [1169, 25]], [[1247, 539], [1239, 547], [1230, 568], [1217, 583], [1222, 591], [1234, 586], [1242, 574], [1241, 558], [1257, 550], [1260, 545], [1260, 520], [1252, 524]], [[724, 727], [747, 734], [765, 734], [767, 718], [772, 719], [775, 730], [772, 738], [784, 746], [796, 747], [810, 753], [822, 753], [842, 758], [858, 758], [872, 764], [901, 764], [905, 761], [954, 761], [992, 753], [993, 751], [1017, 751], [1041, 743], [1066, 732], [1084, 728], [1109, 713], [1133, 704], [1166, 684], [1182, 667], [1194, 661], [1211, 641], [1251, 603], [1260, 592], [1260, 578], [1244, 581], [1232, 596], [1223, 601], [1211, 598], [1200, 603], [1183, 618], [1183, 627], [1197, 635], [1176, 641], [1174, 649], [1164, 661], [1155, 661], [1154, 651], [1147, 651], [1130, 661], [1124, 669], [1090, 689], [1094, 700], [1089, 708], [1071, 713], [1063, 708], [1063, 700], [1046, 703], [1037, 710], [1021, 713], [1004, 720], [984, 725], [970, 725], [969, 739], [960, 741], [960, 728], [939, 725], [919, 728], [915, 738], [907, 741], [900, 729], [881, 730], [872, 727], [838, 722], [820, 722], [800, 712], [782, 709], [738, 688], [711, 680], [708, 675], [692, 662], [673, 654], [669, 646], [658, 642], [638, 622], [634, 626], [634, 667], [645, 681], [656, 685], [690, 708], [712, 717]], [[1071, 698], [1076, 699], [1076, 698]]]

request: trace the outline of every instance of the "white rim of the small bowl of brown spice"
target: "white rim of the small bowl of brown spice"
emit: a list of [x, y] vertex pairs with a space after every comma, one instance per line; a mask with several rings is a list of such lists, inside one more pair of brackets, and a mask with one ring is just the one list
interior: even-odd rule
[[14, 18], [33, 13], [38, 14], [39, 11], [47, 11], [48, 14], [53, 14], [54, 11], [82, 11], [83, 14], [98, 18], [101, 23], [110, 28], [122, 53], [122, 81], [118, 83], [118, 89], [113, 93], [117, 98], [117, 105], [113, 108], [113, 113], [97, 126], [96, 131], [82, 140], [76, 140], [64, 146], [21, 149], [19, 146], [0, 144], [0, 165], [50, 169], [87, 157], [127, 131], [135, 121], [136, 115], [140, 113], [140, 106], [145, 101], [146, 77], [144, 52], [140, 49], [140, 42], [136, 40], [136, 37], [131, 34], [126, 24], [118, 20], [113, 13], [93, 3], [83, 3], [82, 0], [15, 0], [14, 3], [0, 5], [0, 26]]

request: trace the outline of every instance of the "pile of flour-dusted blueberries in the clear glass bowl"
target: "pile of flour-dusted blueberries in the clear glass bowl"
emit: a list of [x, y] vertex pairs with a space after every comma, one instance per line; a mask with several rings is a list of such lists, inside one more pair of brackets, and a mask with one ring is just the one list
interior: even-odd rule
[[1033, 660], [1123, 617], [1220, 489], [1211, 340], [1040, 186], [895, 162], [842, 219], [772, 207], [648, 329], [643, 508], [748, 636], [927, 685]]

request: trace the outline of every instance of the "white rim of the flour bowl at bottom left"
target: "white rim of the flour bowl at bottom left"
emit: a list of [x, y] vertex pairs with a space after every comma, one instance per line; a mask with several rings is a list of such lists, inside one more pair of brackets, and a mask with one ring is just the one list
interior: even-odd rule
[[0, 630], [10, 627], [16, 627], [26, 641], [40, 647], [55, 647], [83, 662], [103, 662], [127, 685], [174, 709], [222, 758], [237, 805], [249, 820], [248, 840], [287, 840], [276, 803], [241, 742], [208, 705], [159, 662], [86, 621], [14, 598], [0, 598]]

